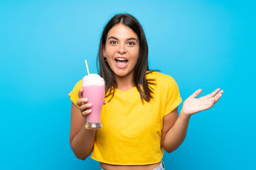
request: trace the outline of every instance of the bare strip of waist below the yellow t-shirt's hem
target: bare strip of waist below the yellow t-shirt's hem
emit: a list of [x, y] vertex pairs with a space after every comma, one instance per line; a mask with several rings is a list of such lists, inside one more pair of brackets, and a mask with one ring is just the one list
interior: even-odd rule
[[101, 170], [153, 170], [162, 166], [161, 162], [147, 165], [112, 165], [100, 162]]

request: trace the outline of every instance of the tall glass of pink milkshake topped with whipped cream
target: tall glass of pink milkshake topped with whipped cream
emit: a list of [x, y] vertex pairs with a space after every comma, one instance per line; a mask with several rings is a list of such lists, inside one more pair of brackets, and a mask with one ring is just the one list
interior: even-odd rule
[[86, 129], [100, 129], [100, 114], [105, 97], [105, 81], [98, 74], [89, 74], [82, 78], [82, 98], [87, 98], [87, 103], [92, 103], [91, 113], [86, 118]]

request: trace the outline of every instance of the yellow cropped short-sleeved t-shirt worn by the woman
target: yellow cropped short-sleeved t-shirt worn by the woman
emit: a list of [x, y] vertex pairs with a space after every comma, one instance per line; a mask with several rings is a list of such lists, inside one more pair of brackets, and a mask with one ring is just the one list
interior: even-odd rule
[[[144, 165], [161, 162], [161, 129], [165, 115], [174, 111], [182, 99], [174, 79], [159, 72], [146, 75], [155, 79], [153, 98], [142, 103], [136, 87], [116, 89], [114, 98], [102, 107], [102, 129], [97, 130], [92, 159], [106, 164]], [[69, 96], [75, 103], [82, 81]], [[110, 96], [105, 98], [106, 101]]]

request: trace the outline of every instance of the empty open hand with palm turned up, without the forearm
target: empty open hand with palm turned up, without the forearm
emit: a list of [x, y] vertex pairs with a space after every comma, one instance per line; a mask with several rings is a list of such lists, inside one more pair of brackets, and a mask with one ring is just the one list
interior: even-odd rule
[[213, 107], [213, 105], [220, 99], [223, 94], [223, 90], [216, 89], [211, 94], [206, 96], [202, 96], [201, 98], [196, 98], [199, 94], [201, 94], [202, 90], [198, 89], [189, 96], [186, 101], [183, 102], [182, 111], [186, 115], [193, 115], [195, 113], [205, 111], [208, 108]]

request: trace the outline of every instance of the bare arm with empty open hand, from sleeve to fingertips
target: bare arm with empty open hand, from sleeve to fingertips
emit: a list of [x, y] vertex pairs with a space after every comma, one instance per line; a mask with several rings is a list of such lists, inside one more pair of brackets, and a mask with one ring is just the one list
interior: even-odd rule
[[174, 115], [178, 115], [178, 108], [164, 117], [161, 146], [166, 152], [173, 152], [182, 144], [186, 137], [191, 115], [213, 107], [223, 94], [223, 91], [220, 91], [219, 93], [218, 91], [220, 91], [220, 89], [216, 89], [213, 93], [201, 98], [196, 98], [201, 93], [201, 89], [197, 90], [184, 101], [181, 113], [178, 118], [176, 118], [175, 123]]

